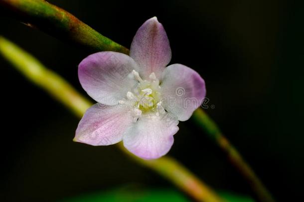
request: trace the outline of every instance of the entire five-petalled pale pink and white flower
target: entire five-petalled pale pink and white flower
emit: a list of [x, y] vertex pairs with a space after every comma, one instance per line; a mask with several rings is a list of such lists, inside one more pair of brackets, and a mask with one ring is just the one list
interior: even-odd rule
[[143, 159], [165, 155], [178, 131], [205, 97], [205, 82], [193, 69], [172, 64], [166, 32], [156, 17], [137, 31], [130, 56], [98, 52], [79, 64], [84, 90], [98, 103], [81, 119], [74, 141], [124, 146]]

